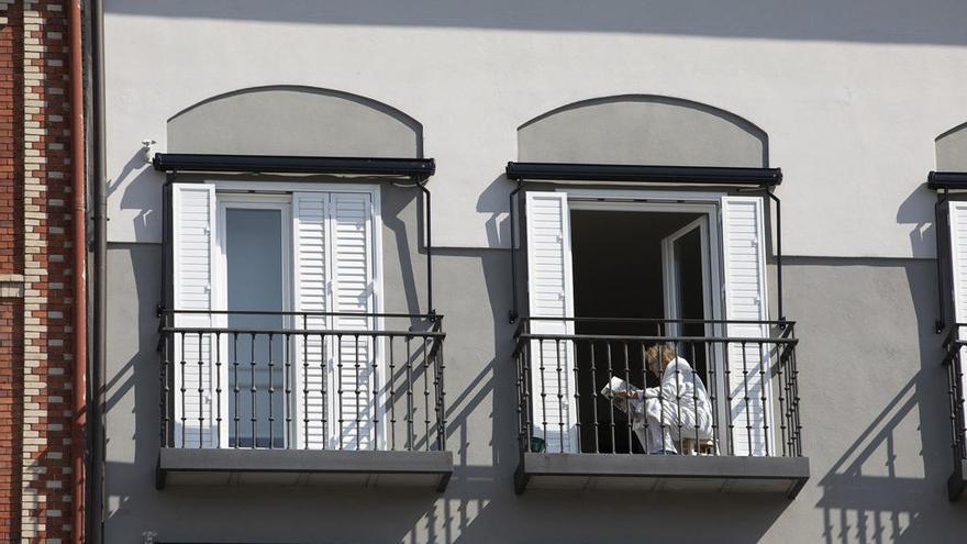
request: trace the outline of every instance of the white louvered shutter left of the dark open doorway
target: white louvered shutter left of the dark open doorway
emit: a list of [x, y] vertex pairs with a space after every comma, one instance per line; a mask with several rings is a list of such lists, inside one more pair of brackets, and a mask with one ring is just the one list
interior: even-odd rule
[[[563, 192], [527, 192], [527, 289], [532, 318], [573, 318], [570, 212]], [[532, 320], [533, 334], [574, 334], [573, 321]], [[548, 453], [577, 453], [575, 349], [570, 341], [531, 343], [533, 433]]]

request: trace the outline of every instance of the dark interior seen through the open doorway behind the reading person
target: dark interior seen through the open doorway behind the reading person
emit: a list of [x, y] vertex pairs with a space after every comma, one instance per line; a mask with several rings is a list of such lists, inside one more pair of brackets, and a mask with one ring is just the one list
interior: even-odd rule
[[[587, 335], [667, 335], [667, 323], [621, 321], [616, 318], [664, 320], [666, 286], [663, 241], [700, 213], [671, 213], [619, 210], [571, 211], [571, 260], [574, 270], [575, 315], [594, 321], [577, 321], [575, 333]], [[685, 319], [710, 319], [705, 315], [702, 275], [702, 240], [696, 230], [678, 237], [674, 263], [679, 288], [677, 304]], [[704, 262], [712, 260], [705, 256]], [[701, 336], [704, 325], [686, 324], [678, 330], [685, 336]], [[593, 347], [592, 347], [593, 346]], [[658, 379], [645, 370], [643, 342], [579, 342], [576, 344], [578, 375], [578, 418], [582, 452], [641, 453], [627, 418], [602, 398], [600, 390], [610, 377], [618, 376], [638, 388], [655, 387]], [[678, 348], [708, 384], [707, 354]], [[592, 353], [593, 349], [593, 353]]]

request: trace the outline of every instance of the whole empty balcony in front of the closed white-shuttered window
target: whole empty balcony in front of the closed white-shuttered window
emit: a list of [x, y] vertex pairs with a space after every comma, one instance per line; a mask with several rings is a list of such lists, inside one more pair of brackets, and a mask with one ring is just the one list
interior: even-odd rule
[[157, 488], [446, 488], [441, 315], [165, 310], [159, 332]]

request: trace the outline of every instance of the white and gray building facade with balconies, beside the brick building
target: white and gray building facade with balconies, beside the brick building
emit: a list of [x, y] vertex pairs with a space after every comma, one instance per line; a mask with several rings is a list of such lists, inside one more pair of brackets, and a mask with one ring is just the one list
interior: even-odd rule
[[964, 5], [103, 8], [102, 542], [967, 535]]

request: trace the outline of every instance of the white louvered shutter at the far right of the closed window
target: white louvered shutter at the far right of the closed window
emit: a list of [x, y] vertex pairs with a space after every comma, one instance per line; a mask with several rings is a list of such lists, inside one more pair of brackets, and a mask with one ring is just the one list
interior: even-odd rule
[[[373, 202], [368, 193], [334, 192], [330, 196], [330, 247], [332, 311], [373, 313], [374, 232]], [[336, 315], [333, 326], [341, 331], [370, 331], [371, 318]], [[369, 449], [380, 440], [374, 419], [380, 417], [378, 347], [367, 335], [343, 334], [333, 338], [330, 365], [333, 396], [334, 445], [342, 449]]]

